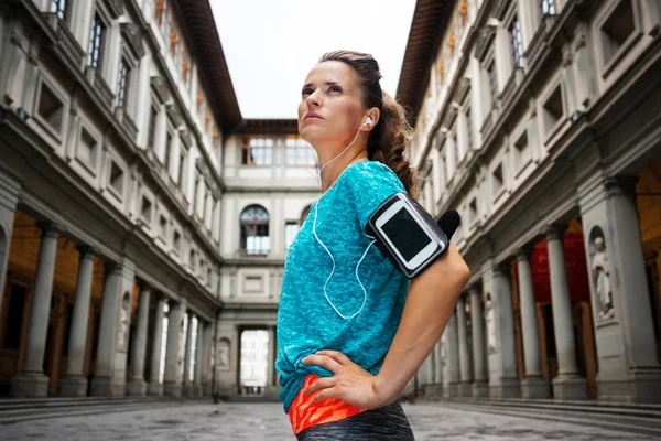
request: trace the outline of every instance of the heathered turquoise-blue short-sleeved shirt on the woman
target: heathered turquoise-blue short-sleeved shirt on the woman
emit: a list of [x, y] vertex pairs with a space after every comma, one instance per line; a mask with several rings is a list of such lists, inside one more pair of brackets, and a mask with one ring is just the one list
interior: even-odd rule
[[[400, 323], [409, 280], [394, 269], [364, 233], [368, 217], [394, 193], [405, 192], [387, 165], [375, 161], [350, 164], [312, 206], [289, 248], [278, 310], [280, 398], [284, 411], [299, 394], [305, 377], [333, 374], [301, 359], [321, 349], [336, 349], [371, 374], [378, 374]], [[316, 212], [316, 213], [315, 213]], [[335, 259], [333, 260], [313, 234]], [[356, 266], [369, 247], [358, 268]]]

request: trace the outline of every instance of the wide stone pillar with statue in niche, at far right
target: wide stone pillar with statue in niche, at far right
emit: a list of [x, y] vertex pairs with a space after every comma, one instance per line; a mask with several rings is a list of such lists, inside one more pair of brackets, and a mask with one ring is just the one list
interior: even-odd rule
[[[660, 10], [657, 8], [657, 13]], [[661, 397], [636, 182], [636, 178], [599, 178], [579, 187], [599, 366], [598, 399], [604, 401], [659, 402]]]

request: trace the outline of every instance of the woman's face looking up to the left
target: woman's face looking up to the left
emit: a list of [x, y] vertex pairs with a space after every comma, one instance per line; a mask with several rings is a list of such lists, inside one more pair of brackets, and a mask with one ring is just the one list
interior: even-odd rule
[[317, 64], [305, 78], [299, 133], [317, 147], [351, 140], [367, 118], [358, 74], [342, 62]]

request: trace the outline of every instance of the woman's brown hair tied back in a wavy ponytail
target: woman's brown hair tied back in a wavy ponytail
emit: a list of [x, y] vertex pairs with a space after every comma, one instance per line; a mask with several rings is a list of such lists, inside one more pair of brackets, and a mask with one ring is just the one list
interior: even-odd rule
[[377, 107], [381, 111], [377, 126], [369, 132], [368, 158], [388, 165], [399, 176], [411, 197], [418, 198], [418, 173], [405, 157], [412, 129], [404, 108], [381, 90], [379, 64], [370, 54], [353, 51], [328, 52], [319, 63], [332, 61], [345, 63], [358, 73], [364, 106], [368, 109]]

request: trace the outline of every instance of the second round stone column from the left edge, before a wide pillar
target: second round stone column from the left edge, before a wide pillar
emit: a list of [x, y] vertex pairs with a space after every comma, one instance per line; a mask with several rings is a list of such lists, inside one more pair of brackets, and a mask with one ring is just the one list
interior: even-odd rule
[[89, 247], [78, 247], [78, 251], [80, 260], [69, 332], [66, 374], [59, 379], [59, 395], [64, 397], [85, 397], [87, 395], [87, 377], [83, 376], [83, 365], [87, 345], [87, 324], [89, 323], [94, 250]]

